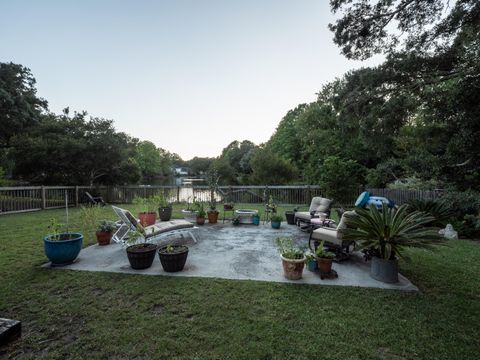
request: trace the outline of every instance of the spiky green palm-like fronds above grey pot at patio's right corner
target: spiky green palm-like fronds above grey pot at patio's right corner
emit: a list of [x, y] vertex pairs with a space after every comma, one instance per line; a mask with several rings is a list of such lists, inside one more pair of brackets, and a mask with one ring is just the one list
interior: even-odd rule
[[344, 240], [353, 240], [367, 254], [385, 260], [399, 257], [408, 260], [405, 248], [432, 250], [442, 239], [438, 229], [428, 226], [433, 217], [420, 211], [407, 211], [408, 205], [398, 209], [385, 204], [379, 210], [374, 205], [355, 209], [358, 216], [347, 219], [348, 227], [341, 229]]

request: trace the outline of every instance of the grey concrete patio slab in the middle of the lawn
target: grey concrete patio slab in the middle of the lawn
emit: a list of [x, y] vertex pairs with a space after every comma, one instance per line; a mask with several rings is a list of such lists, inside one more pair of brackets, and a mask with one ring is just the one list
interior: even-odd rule
[[[163, 271], [158, 256], [152, 267], [133, 270], [125, 249], [118, 244], [108, 246], [93, 245], [80, 252], [75, 263], [55, 269], [105, 271], [143, 275], [168, 275], [212, 277], [236, 280], [273, 281], [297, 284], [357, 286], [380, 289], [418, 291], [407, 278], [400, 275], [398, 284], [385, 284], [370, 277], [370, 265], [361, 254], [354, 254], [348, 261], [334, 263], [337, 279], [321, 280], [318, 273], [304, 270], [301, 280], [288, 280], [283, 276], [282, 263], [275, 247], [275, 239], [289, 236], [303, 247], [308, 245], [308, 234], [293, 225], [282, 223], [279, 230], [267, 225], [205, 224], [196, 230], [197, 243], [192, 239], [165, 238], [161, 243], [184, 243], [189, 246], [187, 263], [183, 271], [167, 273]], [[48, 267], [49, 264], [44, 266]]]

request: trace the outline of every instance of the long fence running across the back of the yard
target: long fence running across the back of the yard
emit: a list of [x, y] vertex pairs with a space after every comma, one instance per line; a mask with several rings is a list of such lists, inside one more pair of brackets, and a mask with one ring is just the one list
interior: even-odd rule
[[[207, 186], [28, 186], [0, 187], [0, 214], [54, 209], [65, 206], [65, 197], [69, 206], [79, 206], [88, 203], [85, 192], [102, 196], [108, 203], [131, 203], [135, 197], [150, 197], [163, 194], [173, 203], [210, 201], [211, 193]], [[352, 194], [344, 203], [336, 203], [345, 207], [353, 206], [360, 192]], [[390, 190], [366, 189], [376, 196], [385, 196], [397, 204], [412, 199], [434, 200], [441, 196], [442, 191], [427, 190]], [[217, 202], [234, 203], [268, 202], [270, 196], [277, 204], [309, 205], [312, 197], [322, 196], [322, 191], [316, 185], [298, 186], [220, 186], [215, 193]]]

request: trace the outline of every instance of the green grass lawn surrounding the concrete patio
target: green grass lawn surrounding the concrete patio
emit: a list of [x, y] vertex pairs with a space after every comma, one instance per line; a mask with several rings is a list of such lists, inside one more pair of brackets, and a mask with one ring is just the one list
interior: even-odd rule
[[[109, 207], [102, 211], [114, 219]], [[78, 214], [71, 210], [71, 230], [85, 231]], [[0, 217], [0, 317], [23, 325], [22, 339], [0, 357], [479, 357], [479, 242], [412, 251], [401, 271], [420, 293], [40, 268], [49, 219], [62, 216]]]

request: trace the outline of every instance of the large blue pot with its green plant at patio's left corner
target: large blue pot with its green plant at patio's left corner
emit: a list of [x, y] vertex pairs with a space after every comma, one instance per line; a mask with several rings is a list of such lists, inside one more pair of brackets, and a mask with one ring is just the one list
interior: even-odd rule
[[[67, 221], [68, 224], [68, 221]], [[75, 261], [83, 245], [83, 235], [81, 233], [71, 233], [67, 230], [60, 232], [63, 224], [56, 219], [50, 220], [48, 229], [51, 235], [43, 238], [45, 255], [51, 261], [52, 266], [63, 266]]]

